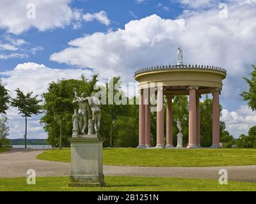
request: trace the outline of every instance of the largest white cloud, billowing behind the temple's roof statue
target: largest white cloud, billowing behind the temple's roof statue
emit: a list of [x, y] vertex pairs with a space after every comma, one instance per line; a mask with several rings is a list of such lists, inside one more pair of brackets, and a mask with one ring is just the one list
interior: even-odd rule
[[222, 97], [240, 99], [238, 94], [246, 89], [241, 77], [256, 61], [256, 6], [230, 6], [228, 19], [219, 18], [218, 12], [217, 7], [186, 11], [176, 20], [157, 15], [132, 20], [125, 29], [72, 40], [50, 59], [131, 82], [138, 68], [175, 64], [177, 47], [182, 47], [185, 63], [226, 68]]

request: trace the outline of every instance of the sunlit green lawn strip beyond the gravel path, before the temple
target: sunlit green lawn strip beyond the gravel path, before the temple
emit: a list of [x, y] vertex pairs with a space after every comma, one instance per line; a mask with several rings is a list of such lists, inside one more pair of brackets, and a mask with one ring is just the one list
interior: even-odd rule
[[[47, 150], [37, 158], [70, 163], [70, 149]], [[256, 149], [103, 149], [103, 163], [118, 166], [255, 165]]]

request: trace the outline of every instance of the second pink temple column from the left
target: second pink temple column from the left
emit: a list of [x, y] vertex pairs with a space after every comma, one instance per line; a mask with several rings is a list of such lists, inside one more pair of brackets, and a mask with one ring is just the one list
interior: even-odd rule
[[146, 147], [150, 147], [150, 102], [148, 89], [144, 90], [144, 98], [145, 98], [145, 143]]

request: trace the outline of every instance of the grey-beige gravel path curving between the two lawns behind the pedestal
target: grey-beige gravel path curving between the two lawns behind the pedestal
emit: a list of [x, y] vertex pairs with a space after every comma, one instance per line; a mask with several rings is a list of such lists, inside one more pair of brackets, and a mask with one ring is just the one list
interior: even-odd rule
[[[65, 176], [70, 174], [70, 164], [36, 159], [44, 150], [12, 149], [0, 154], [0, 178], [26, 177], [33, 169], [37, 177]], [[218, 179], [220, 169], [228, 171], [228, 180], [256, 182], [256, 166], [227, 167], [142, 167], [104, 165], [104, 175], [129, 175], [151, 177], [180, 177]]]

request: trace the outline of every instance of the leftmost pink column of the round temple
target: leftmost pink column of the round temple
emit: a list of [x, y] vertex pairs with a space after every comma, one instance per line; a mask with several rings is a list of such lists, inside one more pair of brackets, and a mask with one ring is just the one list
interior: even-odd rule
[[140, 90], [139, 105], [139, 145], [138, 148], [145, 148], [145, 105], [143, 99], [143, 90]]

